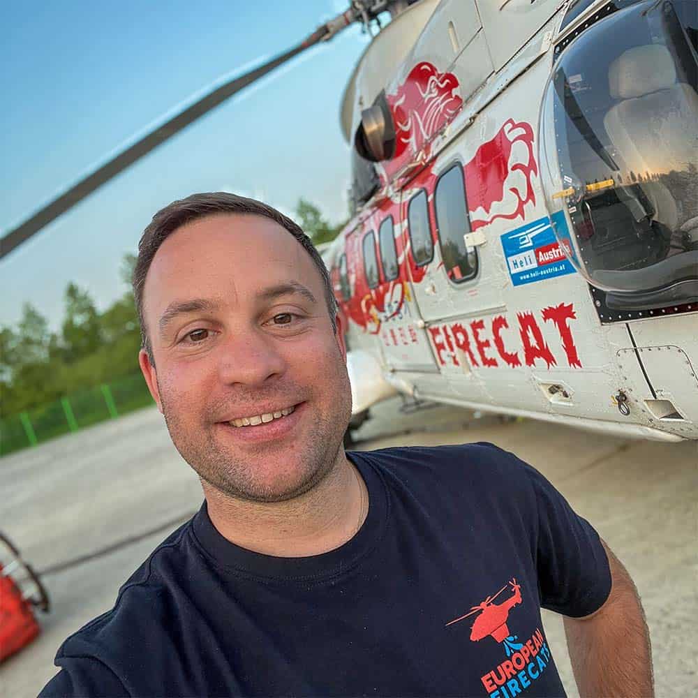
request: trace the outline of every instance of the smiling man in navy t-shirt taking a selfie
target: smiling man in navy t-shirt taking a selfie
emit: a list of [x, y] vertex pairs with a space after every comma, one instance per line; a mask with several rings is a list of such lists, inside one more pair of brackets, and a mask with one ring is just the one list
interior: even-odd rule
[[632, 581], [542, 475], [489, 444], [346, 453], [343, 327], [288, 218], [165, 207], [134, 274], [140, 366], [205, 503], [69, 637], [43, 696], [653, 693]]

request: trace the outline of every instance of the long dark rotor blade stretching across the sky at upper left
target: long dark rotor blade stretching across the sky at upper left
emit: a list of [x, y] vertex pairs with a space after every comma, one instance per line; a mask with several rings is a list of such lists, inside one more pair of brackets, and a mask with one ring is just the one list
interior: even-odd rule
[[196, 119], [207, 114], [207, 112], [217, 107], [221, 102], [232, 97], [244, 87], [255, 82], [255, 80], [259, 80], [260, 77], [267, 75], [271, 70], [281, 66], [281, 64], [297, 56], [300, 52], [322, 40], [332, 38], [338, 31], [341, 31], [341, 29], [347, 27], [351, 22], [354, 22], [356, 18], [353, 10], [348, 10], [346, 13], [338, 15], [334, 20], [318, 27], [318, 29], [313, 31], [313, 34], [302, 43], [272, 58], [262, 66], [250, 70], [248, 73], [245, 73], [245, 75], [235, 77], [220, 87], [217, 87], [171, 119], [168, 119], [168, 121], [165, 121], [164, 124], [159, 125], [154, 131], [147, 133], [143, 138], [129, 145], [124, 151], [121, 151], [109, 161], [100, 165], [94, 172], [90, 172], [87, 177], [73, 184], [67, 191], [64, 191], [64, 193], [61, 193], [57, 198], [40, 208], [26, 221], [22, 221], [16, 228], [9, 230], [6, 235], [0, 239], [0, 259], [41, 230], [45, 225], [82, 201], [86, 196], [95, 191], [96, 188], [105, 184], [105, 182], [113, 177], [116, 177], [119, 172], [123, 172], [129, 165], [132, 165], [135, 161], [158, 147], [158, 145], [179, 133], [182, 128], [185, 128]]

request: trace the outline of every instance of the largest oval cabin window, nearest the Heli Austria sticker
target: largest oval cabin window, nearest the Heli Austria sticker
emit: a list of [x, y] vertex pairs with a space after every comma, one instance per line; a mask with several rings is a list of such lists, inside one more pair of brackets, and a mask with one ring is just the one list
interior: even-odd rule
[[448, 278], [455, 283], [473, 279], [477, 274], [477, 251], [468, 247], [463, 239], [470, 232], [470, 220], [461, 165], [456, 163], [439, 178], [434, 209], [441, 258]]

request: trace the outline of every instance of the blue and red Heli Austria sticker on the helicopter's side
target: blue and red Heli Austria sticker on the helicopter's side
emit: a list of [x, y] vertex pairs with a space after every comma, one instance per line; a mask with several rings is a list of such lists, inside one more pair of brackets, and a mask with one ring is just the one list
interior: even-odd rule
[[[567, 228], [563, 211], [553, 214], [553, 218], [556, 226]], [[574, 273], [547, 216], [505, 232], [501, 240], [514, 286]]]

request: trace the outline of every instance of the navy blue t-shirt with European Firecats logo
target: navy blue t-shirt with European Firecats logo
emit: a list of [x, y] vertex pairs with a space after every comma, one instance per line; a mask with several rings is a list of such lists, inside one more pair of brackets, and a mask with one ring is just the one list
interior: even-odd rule
[[206, 506], [69, 637], [41, 696], [563, 696], [540, 607], [586, 616], [599, 537], [490, 444], [349, 452], [369, 513], [343, 546], [266, 556]]

